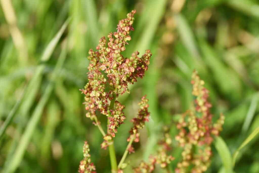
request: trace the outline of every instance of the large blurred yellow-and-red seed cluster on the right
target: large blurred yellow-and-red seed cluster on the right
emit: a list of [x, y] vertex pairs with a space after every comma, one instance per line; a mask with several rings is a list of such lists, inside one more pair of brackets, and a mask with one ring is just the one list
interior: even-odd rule
[[176, 173], [185, 173], [191, 168], [192, 173], [202, 173], [210, 165], [212, 156], [212, 135], [219, 135], [224, 124], [224, 115], [213, 124], [210, 113], [211, 103], [208, 101], [209, 91], [203, 86], [197, 71], [192, 74], [192, 94], [196, 96], [194, 106], [179, 119], [177, 128], [179, 134], [175, 139], [183, 147], [183, 160], [177, 164]]

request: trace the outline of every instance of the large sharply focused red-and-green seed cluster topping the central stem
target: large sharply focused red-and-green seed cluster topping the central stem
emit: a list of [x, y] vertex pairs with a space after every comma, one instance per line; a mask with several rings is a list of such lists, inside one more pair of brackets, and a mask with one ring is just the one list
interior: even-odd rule
[[[105, 37], [100, 38], [97, 51], [90, 49], [88, 52], [88, 83], [81, 91], [85, 95], [86, 116], [95, 120], [95, 125], [100, 124], [96, 117], [97, 111], [108, 117], [107, 134], [101, 144], [104, 149], [112, 143], [117, 128], [126, 118], [123, 112], [125, 106], [116, 97], [129, 92], [128, 84], [144, 76], [152, 56], [150, 50], [146, 50], [141, 57], [138, 57], [138, 51], [132, 53], [130, 58], [121, 54], [126, 49], [127, 41], [131, 40], [129, 34], [134, 30], [132, 24], [135, 13], [136, 10], [132, 10], [126, 19], [120, 20], [117, 32], [109, 33], [107, 40]], [[115, 102], [114, 105], [112, 102]]]

